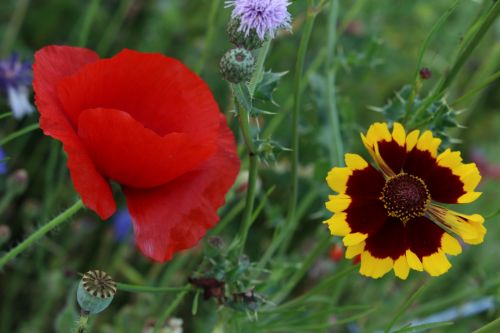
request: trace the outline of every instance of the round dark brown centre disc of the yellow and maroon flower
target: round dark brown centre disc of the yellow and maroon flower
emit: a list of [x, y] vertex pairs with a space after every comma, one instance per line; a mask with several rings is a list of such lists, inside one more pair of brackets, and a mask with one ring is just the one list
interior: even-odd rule
[[387, 179], [380, 200], [389, 216], [406, 223], [411, 218], [424, 215], [431, 196], [422, 179], [400, 173]]

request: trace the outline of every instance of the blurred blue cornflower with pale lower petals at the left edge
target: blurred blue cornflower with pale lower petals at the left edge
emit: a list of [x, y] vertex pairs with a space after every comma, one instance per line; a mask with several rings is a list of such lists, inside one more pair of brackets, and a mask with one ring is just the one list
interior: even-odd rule
[[20, 61], [17, 54], [0, 60], [0, 90], [7, 94], [14, 118], [20, 119], [35, 111], [28, 100], [31, 80], [29, 61]]

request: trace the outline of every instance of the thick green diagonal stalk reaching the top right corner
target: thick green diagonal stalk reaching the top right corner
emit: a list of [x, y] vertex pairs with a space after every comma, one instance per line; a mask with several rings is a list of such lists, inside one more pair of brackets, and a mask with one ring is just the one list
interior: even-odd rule
[[[464, 47], [460, 50], [453, 66], [448, 71], [448, 73], [437, 83], [436, 87], [433, 89], [433, 92], [424, 100], [422, 105], [415, 111], [413, 117], [409, 121], [409, 125], [413, 125], [427, 110], [427, 108], [436, 100], [443, 97], [453, 80], [456, 78], [458, 72], [463, 67], [465, 62], [469, 59], [472, 51], [476, 48], [479, 42], [486, 35], [486, 32], [491, 27], [491, 25], [495, 22], [496, 18], [500, 15], [500, 2], [496, 1], [480, 22], [478, 27], [476, 24], [473, 24], [471, 28], [469, 28], [468, 35], [471, 35], [469, 39], [464, 42]], [[473, 31], [475, 30], [475, 33]]]

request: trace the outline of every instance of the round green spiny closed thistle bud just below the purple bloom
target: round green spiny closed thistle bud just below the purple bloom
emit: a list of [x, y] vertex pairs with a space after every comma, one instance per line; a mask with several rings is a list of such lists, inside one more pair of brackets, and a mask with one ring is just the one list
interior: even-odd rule
[[255, 69], [252, 53], [243, 48], [226, 52], [220, 61], [220, 71], [224, 79], [232, 83], [247, 82]]

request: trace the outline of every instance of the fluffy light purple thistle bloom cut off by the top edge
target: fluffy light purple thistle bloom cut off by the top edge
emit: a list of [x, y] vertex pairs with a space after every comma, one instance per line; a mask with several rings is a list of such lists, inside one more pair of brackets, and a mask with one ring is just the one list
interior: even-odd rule
[[255, 29], [260, 39], [266, 34], [274, 37], [276, 30], [291, 28], [291, 16], [287, 10], [288, 0], [229, 0], [227, 7], [234, 7], [232, 18], [240, 20], [239, 31], [248, 36]]

